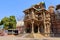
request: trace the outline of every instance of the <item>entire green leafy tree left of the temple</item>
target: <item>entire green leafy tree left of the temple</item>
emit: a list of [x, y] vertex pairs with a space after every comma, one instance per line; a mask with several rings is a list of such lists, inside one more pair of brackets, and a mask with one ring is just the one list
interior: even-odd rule
[[16, 28], [16, 19], [15, 16], [4, 17], [0, 25], [4, 25], [4, 29], [15, 29]]

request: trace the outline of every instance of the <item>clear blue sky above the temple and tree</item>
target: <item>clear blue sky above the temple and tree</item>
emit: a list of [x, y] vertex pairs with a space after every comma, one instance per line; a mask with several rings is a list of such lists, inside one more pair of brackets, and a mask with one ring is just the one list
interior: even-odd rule
[[24, 18], [23, 11], [40, 2], [45, 2], [46, 9], [49, 6], [60, 4], [60, 0], [0, 0], [0, 20], [14, 15], [17, 20]]

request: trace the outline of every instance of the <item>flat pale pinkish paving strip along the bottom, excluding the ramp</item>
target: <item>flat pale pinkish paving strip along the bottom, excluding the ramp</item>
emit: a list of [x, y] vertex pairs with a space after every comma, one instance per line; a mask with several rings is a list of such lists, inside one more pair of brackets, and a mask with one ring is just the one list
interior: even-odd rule
[[0, 40], [60, 40], [60, 38], [56, 37], [45, 37], [45, 38], [21, 38], [14, 36], [0, 36]]

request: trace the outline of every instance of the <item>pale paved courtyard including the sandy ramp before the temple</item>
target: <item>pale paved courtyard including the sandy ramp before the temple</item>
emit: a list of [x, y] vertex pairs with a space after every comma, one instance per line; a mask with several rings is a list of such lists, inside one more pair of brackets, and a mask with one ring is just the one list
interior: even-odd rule
[[59, 37], [43, 37], [41, 34], [20, 34], [19, 36], [0, 36], [0, 40], [60, 40]]

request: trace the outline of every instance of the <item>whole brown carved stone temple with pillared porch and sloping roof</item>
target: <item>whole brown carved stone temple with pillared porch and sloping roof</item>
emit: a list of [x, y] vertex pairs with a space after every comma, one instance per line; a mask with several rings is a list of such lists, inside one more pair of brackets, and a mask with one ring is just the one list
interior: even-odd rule
[[51, 36], [56, 32], [54, 27], [57, 29], [57, 26], [55, 26], [57, 25], [57, 21], [53, 6], [50, 6], [48, 10], [46, 10], [45, 3], [41, 2], [24, 10], [24, 14], [26, 33], [40, 33], [44, 36]]

